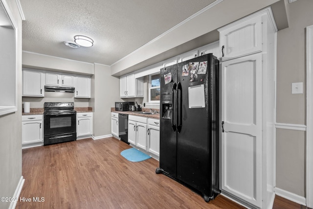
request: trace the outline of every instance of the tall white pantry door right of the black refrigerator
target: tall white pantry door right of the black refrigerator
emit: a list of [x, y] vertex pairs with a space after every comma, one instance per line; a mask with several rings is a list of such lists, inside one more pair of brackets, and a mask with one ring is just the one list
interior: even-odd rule
[[262, 207], [262, 54], [222, 63], [222, 190]]

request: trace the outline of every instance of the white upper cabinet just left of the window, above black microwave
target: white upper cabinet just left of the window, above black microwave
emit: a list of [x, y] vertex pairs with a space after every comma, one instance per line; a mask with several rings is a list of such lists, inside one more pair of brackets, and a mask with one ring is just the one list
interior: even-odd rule
[[135, 74], [120, 77], [120, 97], [143, 97], [143, 78], [135, 78]]

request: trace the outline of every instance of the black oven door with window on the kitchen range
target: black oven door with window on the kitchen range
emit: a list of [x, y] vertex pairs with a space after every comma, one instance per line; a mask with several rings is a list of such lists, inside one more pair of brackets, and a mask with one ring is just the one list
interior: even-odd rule
[[76, 112], [44, 113], [44, 135], [76, 132]]

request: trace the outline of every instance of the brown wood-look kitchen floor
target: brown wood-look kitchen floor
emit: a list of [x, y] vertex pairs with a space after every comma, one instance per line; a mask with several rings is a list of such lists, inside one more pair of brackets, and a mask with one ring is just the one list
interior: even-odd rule
[[[138, 163], [127, 161], [120, 152], [130, 147], [117, 139], [107, 138], [23, 149], [25, 183], [16, 208], [244, 208], [222, 195], [206, 203], [189, 188], [156, 174], [158, 161], [155, 159]], [[41, 202], [34, 201], [36, 198]]]

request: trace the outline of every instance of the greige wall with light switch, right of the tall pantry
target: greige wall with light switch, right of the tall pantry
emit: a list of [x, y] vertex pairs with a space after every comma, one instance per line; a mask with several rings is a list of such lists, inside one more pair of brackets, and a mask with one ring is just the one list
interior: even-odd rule
[[[306, 123], [305, 28], [313, 24], [312, 0], [289, 4], [289, 28], [277, 33], [277, 118], [278, 123]], [[291, 83], [303, 83], [304, 93], [291, 94]], [[312, 127], [307, 127], [312, 128]], [[305, 197], [305, 131], [277, 129], [276, 186]]]

